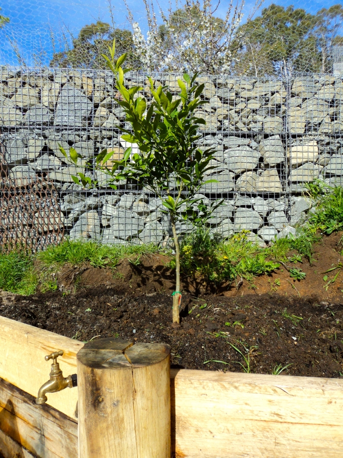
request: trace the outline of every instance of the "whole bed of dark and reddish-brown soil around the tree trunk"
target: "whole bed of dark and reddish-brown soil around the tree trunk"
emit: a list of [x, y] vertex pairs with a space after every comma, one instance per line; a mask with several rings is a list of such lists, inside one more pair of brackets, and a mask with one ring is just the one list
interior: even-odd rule
[[123, 260], [114, 272], [66, 266], [59, 291], [2, 292], [0, 314], [81, 341], [116, 335], [167, 343], [176, 367], [243, 372], [247, 363], [234, 345], [245, 358], [249, 353], [251, 372], [270, 374], [281, 364], [290, 365], [283, 374], [341, 377], [343, 272], [323, 287], [323, 272], [342, 261], [341, 238], [323, 237], [311, 264], [288, 263], [306, 272], [305, 280], [291, 279], [286, 268], [218, 288], [183, 278], [179, 325], [172, 324], [173, 273], [164, 255], [143, 257], [138, 266]]

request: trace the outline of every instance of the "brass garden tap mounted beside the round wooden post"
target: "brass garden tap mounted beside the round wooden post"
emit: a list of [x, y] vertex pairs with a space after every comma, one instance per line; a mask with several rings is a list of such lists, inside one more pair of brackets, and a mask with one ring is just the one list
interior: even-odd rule
[[69, 375], [68, 377], [63, 377], [62, 371], [60, 370], [60, 365], [57, 362], [58, 356], [63, 355], [63, 350], [58, 352], [53, 352], [48, 356], [45, 356], [45, 360], [49, 361], [52, 359], [50, 380], [45, 382], [38, 391], [38, 397], [36, 398], [36, 404], [45, 404], [48, 401], [46, 393], [56, 393], [57, 391], [64, 390], [64, 388], [73, 388], [77, 386], [77, 375]]

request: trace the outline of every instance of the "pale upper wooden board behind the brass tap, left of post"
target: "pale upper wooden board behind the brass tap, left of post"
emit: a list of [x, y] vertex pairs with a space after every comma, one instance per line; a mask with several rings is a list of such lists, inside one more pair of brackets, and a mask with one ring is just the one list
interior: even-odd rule
[[[63, 350], [58, 358], [64, 377], [76, 373], [76, 353], [82, 342], [0, 317], [0, 377], [37, 397], [49, 380], [50, 362], [44, 356]], [[48, 393], [48, 404], [76, 419], [77, 389]]]

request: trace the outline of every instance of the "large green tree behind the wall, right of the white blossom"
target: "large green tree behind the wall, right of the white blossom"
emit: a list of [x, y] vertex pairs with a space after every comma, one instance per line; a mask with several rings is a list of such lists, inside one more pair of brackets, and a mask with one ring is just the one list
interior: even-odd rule
[[244, 42], [236, 73], [288, 76], [294, 71], [328, 72], [330, 48], [340, 39], [342, 20], [340, 4], [315, 15], [302, 8], [271, 4], [261, 16], [241, 26]]

